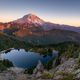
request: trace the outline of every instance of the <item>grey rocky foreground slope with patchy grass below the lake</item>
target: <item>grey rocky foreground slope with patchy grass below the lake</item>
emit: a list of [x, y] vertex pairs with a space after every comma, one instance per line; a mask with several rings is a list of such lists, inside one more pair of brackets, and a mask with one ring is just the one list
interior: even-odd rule
[[11, 67], [0, 73], [0, 80], [80, 80], [78, 58], [70, 58], [51, 70], [45, 70], [39, 61], [33, 74], [25, 74], [25, 69]]

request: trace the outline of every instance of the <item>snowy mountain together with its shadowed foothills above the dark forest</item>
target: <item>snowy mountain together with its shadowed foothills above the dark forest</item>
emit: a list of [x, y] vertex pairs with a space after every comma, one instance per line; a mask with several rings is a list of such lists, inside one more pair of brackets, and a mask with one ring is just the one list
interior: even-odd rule
[[33, 14], [12, 22], [1, 23], [0, 28], [7, 35], [33, 43], [80, 42], [80, 27], [46, 22]]

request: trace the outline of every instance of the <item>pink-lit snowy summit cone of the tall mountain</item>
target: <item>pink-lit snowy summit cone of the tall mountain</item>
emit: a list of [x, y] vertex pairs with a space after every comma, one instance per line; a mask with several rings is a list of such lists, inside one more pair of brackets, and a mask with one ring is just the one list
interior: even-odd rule
[[15, 21], [16, 23], [31, 23], [31, 24], [43, 24], [44, 21], [42, 19], [40, 19], [38, 16], [36, 16], [35, 14], [27, 14], [25, 16], [23, 16], [22, 18], [18, 19]]

